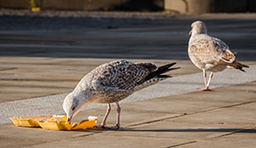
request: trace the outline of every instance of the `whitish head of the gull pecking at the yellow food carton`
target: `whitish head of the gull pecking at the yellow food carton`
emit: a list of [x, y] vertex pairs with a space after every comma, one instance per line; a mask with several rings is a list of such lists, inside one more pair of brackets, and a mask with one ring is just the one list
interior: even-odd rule
[[63, 109], [68, 117], [68, 122], [71, 123], [72, 118], [81, 110], [84, 106], [81, 95], [74, 95], [69, 93], [63, 102]]

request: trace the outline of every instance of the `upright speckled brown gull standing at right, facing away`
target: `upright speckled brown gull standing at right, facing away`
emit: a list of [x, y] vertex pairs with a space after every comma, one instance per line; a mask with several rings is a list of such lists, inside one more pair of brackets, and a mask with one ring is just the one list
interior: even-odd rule
[[[225, 68], [249, 68], [236, 61], [236, 56], [229, 50], [229, 47], [222, 40], [211, 37], [207, 34], [207, 26], [202, 21], [195, 21], [191, 25], [190, 40], [188, 45], [188, 56], [197, 68], [203, 70], [205, 88], [199, 91], [209, 91], [209, 82], [213, 72], [222, 71]], [[210, 71], [209, 80], [207, 73]]]

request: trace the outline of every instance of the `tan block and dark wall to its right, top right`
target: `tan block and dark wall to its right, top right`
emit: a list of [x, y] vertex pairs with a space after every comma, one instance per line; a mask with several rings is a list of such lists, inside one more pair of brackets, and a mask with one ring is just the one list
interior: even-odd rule
[[255, 12], [255, 0], [165, 0], [165, 9], [177, 14]]

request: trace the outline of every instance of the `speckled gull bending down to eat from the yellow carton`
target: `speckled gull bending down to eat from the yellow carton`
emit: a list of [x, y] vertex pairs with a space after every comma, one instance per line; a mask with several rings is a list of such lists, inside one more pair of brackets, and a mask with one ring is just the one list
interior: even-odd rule
[[119, 101], [128, 97], [128, 95], [151, 86], [160, 80], [170, 78], [169, 75], [162, 75], [176, 63], [171, 63], [158, 68], [152, 63], [133, 64], [126, 60], [117, 60], [103, 64], [90, 71], [75, 87], [72, 93], [69, 93], [64, 102], [63, 109], [67, 114], [68, 121], [80, 111], [80, 109], [89, 104], [108, 104], [108, 109], [101, 125], [97, 127], [106, 128], [106, 119], [111, 110], [111, 103], [117, 105], [117, 124], [110, 129], [119, 129], [120, 127], [120, 105]]

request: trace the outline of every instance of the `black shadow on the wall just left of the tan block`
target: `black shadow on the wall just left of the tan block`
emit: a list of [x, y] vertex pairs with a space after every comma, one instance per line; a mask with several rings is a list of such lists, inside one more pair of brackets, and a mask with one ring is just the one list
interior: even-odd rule
[[128, 0], [113, 7], [115, 10], [127, 11], [162, 11], [164, 10], [164, 0]]

